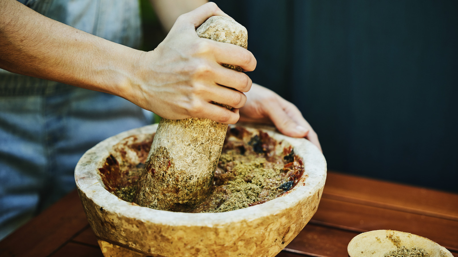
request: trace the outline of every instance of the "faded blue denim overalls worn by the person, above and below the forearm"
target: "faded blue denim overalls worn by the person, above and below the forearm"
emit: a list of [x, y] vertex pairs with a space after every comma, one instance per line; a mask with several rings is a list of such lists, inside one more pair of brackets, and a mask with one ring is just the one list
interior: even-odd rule
[[[136, 0], [20, 2], [115, 43], [141, 42]], [[75, 188], [86, 150], [147, 123], [140, 107], [118, 96], [0, 70], [0, 240]]]

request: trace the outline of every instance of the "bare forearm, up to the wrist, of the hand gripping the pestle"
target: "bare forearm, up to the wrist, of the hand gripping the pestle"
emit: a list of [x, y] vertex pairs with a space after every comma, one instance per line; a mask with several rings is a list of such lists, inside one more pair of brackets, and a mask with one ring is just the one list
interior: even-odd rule
[[0, 68], [122, 95], [141, 51], [49, 19], [16, 0], [0, 1]]

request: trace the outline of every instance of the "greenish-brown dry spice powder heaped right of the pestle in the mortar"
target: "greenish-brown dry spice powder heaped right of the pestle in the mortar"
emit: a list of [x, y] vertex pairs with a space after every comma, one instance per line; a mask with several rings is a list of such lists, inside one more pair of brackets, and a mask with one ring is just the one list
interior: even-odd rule
[[[251, 151], [247, 151], [251, 152]], [[267, 161], [259, 154], [241, 155], [235, 150], [221, 154], [210, 196], [192, 212], [224, 212], [265, 203], [287, 192], [291, 175], [299, 173], [295, 161]]]

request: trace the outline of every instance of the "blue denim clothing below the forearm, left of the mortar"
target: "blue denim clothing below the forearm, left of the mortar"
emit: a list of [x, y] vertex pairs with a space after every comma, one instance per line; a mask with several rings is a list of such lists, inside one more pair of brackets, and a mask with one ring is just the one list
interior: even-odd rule
[[80, 88], [3, 96], [0, 110], [0, 237], [75, 188], [86, 150], [148, 123], [131, 102]]

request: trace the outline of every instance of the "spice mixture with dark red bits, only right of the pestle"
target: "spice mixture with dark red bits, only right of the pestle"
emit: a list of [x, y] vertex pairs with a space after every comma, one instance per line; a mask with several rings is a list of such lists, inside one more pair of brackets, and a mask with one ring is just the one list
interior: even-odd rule
[[[229, 129], [210, 195], [191, 212], [225, 212], [265, 203], [288, 192], [302, 176], [302, 160], [292, 147], [275, 153], [277, 141], [267, 133], [251, 135]], [[245, 135], [245, 136], [244, 136]]]

